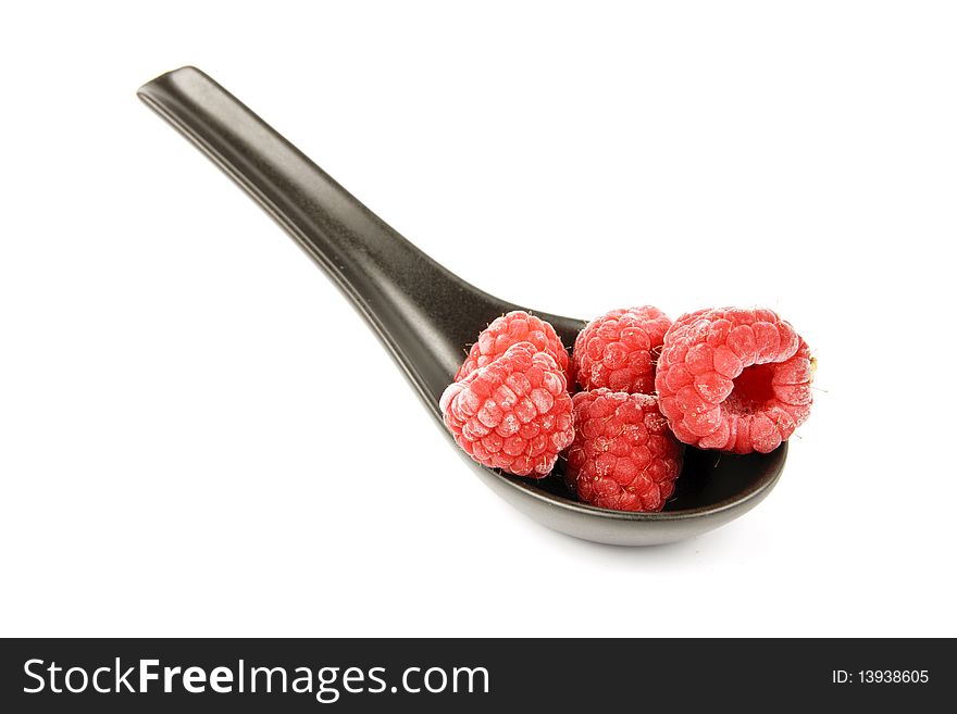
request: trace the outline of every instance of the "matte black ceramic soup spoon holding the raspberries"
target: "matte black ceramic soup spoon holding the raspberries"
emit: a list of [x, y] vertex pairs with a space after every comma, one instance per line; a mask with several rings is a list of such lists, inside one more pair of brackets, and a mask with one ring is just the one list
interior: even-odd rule
[[[170, 72], [137, 93], [332, 277], [442, 424], [438, 398], [465, 346], [492, 320], [519, 306], [464, 283], [422, 253], [199, 70]], [[584, 325], [534, 312], [555, 325], [567, 347]], [[450, 437], [449, 442], [459, 450]], [[688, 449], [675, 496], [661, 513], [576, 502], [564, 486], [561, 461], [556, 473], [536, 481], [485, 468], [460, 453], [496, 493], [549, 528], [604, 543], [651, 546], [697, 536], [753, 509], [778, 481], [787, 444], [745, 456]]]

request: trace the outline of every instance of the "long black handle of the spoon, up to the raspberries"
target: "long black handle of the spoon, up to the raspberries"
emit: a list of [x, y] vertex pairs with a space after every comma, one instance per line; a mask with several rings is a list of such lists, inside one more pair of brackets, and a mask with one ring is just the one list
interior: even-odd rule
[[402, 238], [195, 67], [137, 92], [244, 188], [330, 275], [437, 412], [463, 347], [508, 303]]

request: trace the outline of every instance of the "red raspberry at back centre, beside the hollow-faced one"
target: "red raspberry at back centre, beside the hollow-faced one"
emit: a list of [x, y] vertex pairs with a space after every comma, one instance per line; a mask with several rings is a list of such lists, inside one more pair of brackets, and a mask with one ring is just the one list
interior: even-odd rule
[[593, 320], [575, 339], [574, 369], [584, 389], [650, 394], [655, 391], [655, 362], [668, 316], [651, 305], [612, 310]]

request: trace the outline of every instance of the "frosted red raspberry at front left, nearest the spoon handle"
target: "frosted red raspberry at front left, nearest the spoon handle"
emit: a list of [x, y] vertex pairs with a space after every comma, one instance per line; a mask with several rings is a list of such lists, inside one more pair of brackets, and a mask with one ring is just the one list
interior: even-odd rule
[[555, 359], [532, 342], [449, 385], [439, 408], [472, 459], [515, 476], [542, 478], [572, 442], [572, 400]]

